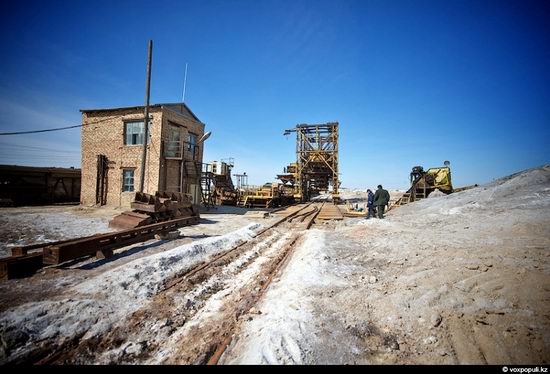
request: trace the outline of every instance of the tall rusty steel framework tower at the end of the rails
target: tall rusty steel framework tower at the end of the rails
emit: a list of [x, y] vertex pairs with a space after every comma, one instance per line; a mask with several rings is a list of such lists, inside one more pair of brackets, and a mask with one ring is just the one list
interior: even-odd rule
[[338, 122], [300, 124], [285, 130], [284, 135], [292, 132], [296, 132], [296, 167], [292, 174], [297, 197], [307, 201], [332, 186], [332, 197], [338, 200]]

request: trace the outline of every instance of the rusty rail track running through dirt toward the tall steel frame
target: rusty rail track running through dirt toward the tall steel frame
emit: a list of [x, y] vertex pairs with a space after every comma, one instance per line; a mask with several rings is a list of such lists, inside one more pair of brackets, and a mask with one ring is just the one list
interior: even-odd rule
[[[146, 352], [137, 357], [122, 355], [114, 362], [216, 364], [243, 318], [281, 273], [322, 206], [323, 203], [308, 203], [289, 208], [290, 212], [257, 232], [251, 240], [167, 281], [148, 305], [104, 336], [85, 342], [73, 339], [68, 345], [35, 356], [33, 362], [98, 362], [102, 350], [122, 349], [128, 341], [145, 339]], [[243, 276], [247, 272], [250, 277]], [[215, 313], [209, 312], [217, 303], [222, 307]], [[151, 332], [151, 326], [167, 320], [170, 328], [175, 329], [168, 338]], [[159, 361], [158, 357], [166, 359]]]

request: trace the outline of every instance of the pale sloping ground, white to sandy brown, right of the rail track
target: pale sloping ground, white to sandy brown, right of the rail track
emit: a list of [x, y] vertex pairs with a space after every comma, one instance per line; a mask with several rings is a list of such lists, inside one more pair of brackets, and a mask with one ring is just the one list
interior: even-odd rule
[[550, 362], [550, 165], [308, 236], [224, 362]]

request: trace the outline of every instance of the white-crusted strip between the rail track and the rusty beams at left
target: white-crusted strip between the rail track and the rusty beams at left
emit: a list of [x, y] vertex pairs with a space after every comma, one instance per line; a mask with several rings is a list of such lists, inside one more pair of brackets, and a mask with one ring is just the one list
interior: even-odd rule
[[249, 240], [259, 224], [139, 258], [99, 273], [55, 300], [33, 302], [0, 315], [0, 361], [13, 360], [66, 339], [92, 338], [142, 307], [160, 287], [189, 267]]

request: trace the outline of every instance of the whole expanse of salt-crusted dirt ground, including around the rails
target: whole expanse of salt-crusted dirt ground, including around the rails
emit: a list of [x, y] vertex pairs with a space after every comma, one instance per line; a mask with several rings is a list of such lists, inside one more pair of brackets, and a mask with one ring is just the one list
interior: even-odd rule
[[[361, 191], [343, 195], [364, 202]], [[32, 209], [24, 212], [31, 218]], [[73, 220], [116, 213], [72, 209]], [[22, 218], [4, 212], [0, 219], [19, 229]], [[399, 207], [383, 220], [281, 227], [259, 242], [255, 233], [276, 217], [221, 207], [201, 218], [174, 241], [0, 284], [0, 362], [32, 361], [67, 342], [77, 346], [66, 362], [202, 362], [193, 355], [204, 354], [210, 335], [201, 334], [233, 320], [232, 308], [296, 237], [286, 266], [228, 330], [220, 363], [550, 361], [550, 165]], [[247, 242], [200, 279], [162, 291], [189, 266]]]

